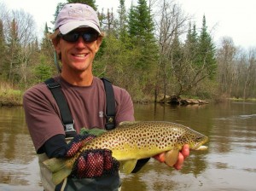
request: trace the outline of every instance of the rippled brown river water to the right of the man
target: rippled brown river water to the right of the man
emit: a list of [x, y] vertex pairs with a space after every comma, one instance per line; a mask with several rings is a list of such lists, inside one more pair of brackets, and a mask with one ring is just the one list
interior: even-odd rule
[[[137, 106], [138, 120], [168, 120], [187, 125], [209, 136], [209, 150], [191, 152], [182, 171], [160, 169], [146, 185], [157, 190], [253, 190], [256, 178], [256, 104], [226, 102], [221, 105], [166, 107]], [[143, 108], [142, 108], [143, 107]], [[150, 112], [151, 111], [151, 112]], [[155, 165], [153, 168], [156, 168]], [[165, 173], [166, 172], [166, 178]], [[137, 175], [136, 175], [137, 176]], [[149, 174], [147, 175], [149, 176]], [[241, 177], [243, 181], [241, 182]], [[246, 180], [245, 180], [246, 179]], [[173, 182], [174, 180], [174, 182]], [[169, 182], [172, 182], [169, 185]], [[169, 185], [166, 188], [166, 185]], [[128, 190], [128, 189], [127, 189]], [[156, 190], [145, 188], [144, 190]]]

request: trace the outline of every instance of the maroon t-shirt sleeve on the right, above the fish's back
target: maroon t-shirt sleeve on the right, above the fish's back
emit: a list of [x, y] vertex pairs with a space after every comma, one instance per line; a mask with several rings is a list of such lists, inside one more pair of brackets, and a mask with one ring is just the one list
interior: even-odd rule
[[113, 86], [113, 90], [116, 101], [116, 125], [123, 121], [134, 121], [134, 108], [129, 93], [116, 86]]

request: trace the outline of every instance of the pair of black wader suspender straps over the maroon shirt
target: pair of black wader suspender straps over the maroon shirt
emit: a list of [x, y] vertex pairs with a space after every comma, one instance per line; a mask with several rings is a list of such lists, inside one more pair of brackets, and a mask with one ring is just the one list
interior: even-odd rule
[[[114, 117], [115, 117], [115, 100], [113, 94], [113, 86], [108, 81], [107, 78], [101, 78], [104, 84], [105, 92], [106, 92], [106, 101], [107, 101], [107, 108], [106, 108], [106, 130], [113, 130], [115, 128]], [[44, 81], [44, 83], [48, 86], [49, 90], [51, 91], [52, 95], [57, 102], [57, 105], [61, 112], [61, 120], [64, 126], [64, 130], [66, 133], [66, 137], [74, 136], [76, 130], [73, 128], [73, 118], [70, 112], [70, 109], [67, 104], [67, 100], [65, 95], [61, 90], [61, 85], [58, 82], [55, 82], [54, 78], [49, 78]]]

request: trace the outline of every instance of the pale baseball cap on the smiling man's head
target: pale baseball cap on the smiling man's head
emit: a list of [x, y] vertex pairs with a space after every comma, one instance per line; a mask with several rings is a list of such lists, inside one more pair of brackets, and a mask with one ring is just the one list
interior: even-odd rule
[[55, 21], [55, 28], [61, 34], [67, 34], [79, 27], [90, 27], [101, 34], [100, 22], [96, 11], [87, 4], [68, 3], [60, 11]]

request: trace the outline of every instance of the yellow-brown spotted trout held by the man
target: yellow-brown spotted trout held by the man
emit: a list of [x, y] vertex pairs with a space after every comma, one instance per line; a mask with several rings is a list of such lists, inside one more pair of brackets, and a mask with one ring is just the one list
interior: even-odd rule
[[[87, 149], [106, 148], [120, 163], [119, 171], [131, 173], [138, 159], [147, 159], [166, 151], [170, 155], [168, 165], [174, 165], [177, 154], [184, 144], [189, 149], [206, 150], [203, 144], [208, 137], [184, 126], [168, 121], [134, 121], [122, 122], [114, 130], [101, 133], [100, 136], [86, 142], [79, 152], [71, 159], [47, 159], [43, 163], [52, 172], [52, 180], [57, 185], [69, 176], [74, 161]], [[171, 157], [171, 158], [170, 158]]]

